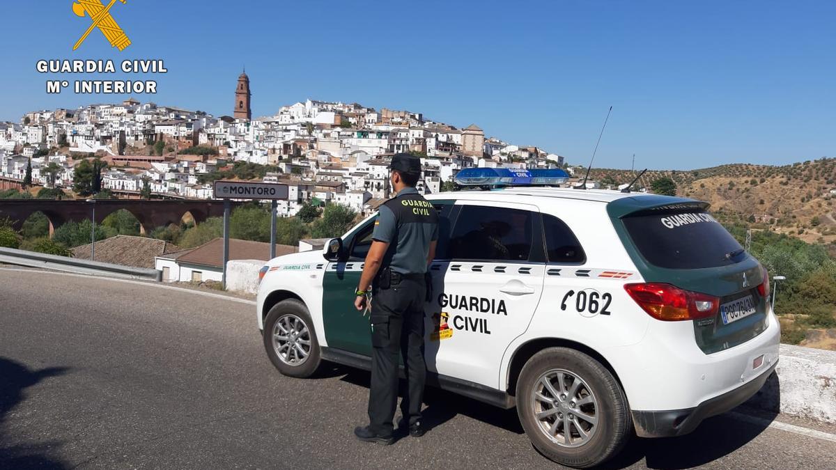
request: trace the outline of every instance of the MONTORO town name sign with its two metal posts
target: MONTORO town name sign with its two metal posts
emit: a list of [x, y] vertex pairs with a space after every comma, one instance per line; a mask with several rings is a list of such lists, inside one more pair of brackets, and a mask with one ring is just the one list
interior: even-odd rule
[[215, 181], [215, 199], [223, 199], [223, 273], [222, 288], [227, 289], [229, 261], [229, 212], [232, 199], [270, 201], [270, 258], [276, 258], [277, 201], [287, 201], [290, 189], [286, 184], [249, 181]]

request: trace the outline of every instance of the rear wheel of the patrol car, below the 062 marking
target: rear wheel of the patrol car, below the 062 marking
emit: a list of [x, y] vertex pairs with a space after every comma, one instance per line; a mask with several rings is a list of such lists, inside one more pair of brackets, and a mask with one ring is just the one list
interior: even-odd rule
[[568, 467], [606, 462], [632, 435], [619, 382], [598, 360], [568, 348], [541, 350], [526, 362], [517, 381], [517, 415], [533, 446]]

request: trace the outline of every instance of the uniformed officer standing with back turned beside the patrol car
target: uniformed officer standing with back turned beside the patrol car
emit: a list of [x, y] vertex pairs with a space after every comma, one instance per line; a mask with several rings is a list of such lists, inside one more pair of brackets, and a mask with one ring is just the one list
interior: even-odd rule
[[372, 352], [369, 420], [354, 434], [361, 441], [391, 444], [392, 419], [398, 399], [398, 355], [403, 355], [408, 390], [401, 401], [403, 422], [410, 436], [424, 434], [421, 427], [426, 364], [424, 362], [424, 303], [429, 286], [427, 264], [436, 254], [438, 215], [418, 194], [415, 184], [421, 176], [421, 160], [397, 154], [389, 166], [390, 182], [396, 196], [380, 206], [372, 232], [372, 244], [365, 259], [354, 306], [371, 302]]

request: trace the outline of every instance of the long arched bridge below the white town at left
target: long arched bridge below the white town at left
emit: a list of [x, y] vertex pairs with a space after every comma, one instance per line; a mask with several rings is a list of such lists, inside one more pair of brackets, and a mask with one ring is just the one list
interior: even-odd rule
[[[125, 209], [140, 221], [140, 232], [146, 233], [156, 227], [179, 224], [186, 214], [201, 223], [208, 217], [223, 216], [223, 201], [125, 201], [122, 199], [97, 199], [95, 202], [84, 200], [52, 201], [40, 199], [4, 199], [0, 200], [0, 218], [9, 218], [13, 227], [20, 229], [23, 222], [35, 212], [43, 212], [49, 220], [49, 233], [65, 222], [81, 222], [93, 216], [96, 207], [96, 223], [104, 217]], [[232, 203], [233, 207], [237, 204]]]

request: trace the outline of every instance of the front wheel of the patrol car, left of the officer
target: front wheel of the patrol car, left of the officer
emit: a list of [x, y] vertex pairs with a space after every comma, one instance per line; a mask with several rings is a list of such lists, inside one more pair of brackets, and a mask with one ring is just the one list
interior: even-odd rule
[[264, 319], [264, 349], [283, 375], [306, 378], [319, 369], [322, 354], [308, 308], [297, 299], [273, 305]]

